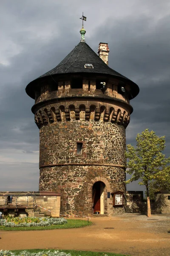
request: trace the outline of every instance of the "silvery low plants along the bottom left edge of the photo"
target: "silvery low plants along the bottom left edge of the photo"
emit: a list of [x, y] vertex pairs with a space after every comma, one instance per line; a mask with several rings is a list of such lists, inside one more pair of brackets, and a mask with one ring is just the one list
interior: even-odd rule
[[31, 253], [29, 251], [22, 251], [20, 252], [19, 254], [16, 254], [16, 253], [13, 253], [11, 251], [3, 251], [3, 250], [0, 250], [0, 256], [71, 256], [70, 253], [64, 253], [64, 252], [59, 252], [59, 251], [54, 251], [54, 252], [51, 252], [50, 250], [49, 251], [40, 251], [38, 253]]

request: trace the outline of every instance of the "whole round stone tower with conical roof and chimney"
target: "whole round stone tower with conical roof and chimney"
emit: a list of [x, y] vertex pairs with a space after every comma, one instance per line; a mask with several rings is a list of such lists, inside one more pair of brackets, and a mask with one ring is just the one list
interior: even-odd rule
[[40, 191], [61, 193], [60, 213], [125, 212], [125, 129], [129, 101], [139, 87], [108, 67], [108, 44], [99, 56], [80, 43], [57, 67], [29, 83], [26, 93], [40, 129]]

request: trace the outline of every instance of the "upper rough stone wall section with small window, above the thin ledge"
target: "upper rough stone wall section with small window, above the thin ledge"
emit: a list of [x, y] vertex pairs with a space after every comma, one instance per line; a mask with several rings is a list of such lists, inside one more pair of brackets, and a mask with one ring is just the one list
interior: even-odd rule
[[[77, 154], [77, 143], [82, 154]], [[40, 128], [40, 167], [51, 164], [125, 166], [125, 128], [111, 122], [55, 122]]]

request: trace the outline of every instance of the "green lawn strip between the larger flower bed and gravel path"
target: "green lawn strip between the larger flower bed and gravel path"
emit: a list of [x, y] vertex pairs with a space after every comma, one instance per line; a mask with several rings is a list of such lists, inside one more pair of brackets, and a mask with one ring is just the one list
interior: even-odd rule
[[3, 227], [0, 226], [0, 230], [51, 230], [51, 229], [63, 229], [63, 228], [76, 228], [85, 227], [92, 224], [91, 221], [67, 219], [68, 223], [64, 225], [51, 225], [47, 227]]

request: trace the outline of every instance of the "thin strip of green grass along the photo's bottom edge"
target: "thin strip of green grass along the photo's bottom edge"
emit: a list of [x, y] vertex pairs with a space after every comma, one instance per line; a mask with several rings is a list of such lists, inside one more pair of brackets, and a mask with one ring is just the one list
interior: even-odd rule
[[[12, 250], [14, 253], [20, 253], [23, 250]], [[42, 249], [34, 249], [34, 250], [27, 250], [31, 253], [38, 253], [42, 251]], [[49, 251], [48, 249], [44, 249], [43, 251]], [[54, 251], [51, 249], [50, 251]], [[91, 252], [91, 251], [77, 251], [77, 250], [59, 250], [60, 252], [70, 253], [71, 256], [130, 256], [125, 254], [118, 254], [118, 253], [101, 253], [101, 252]]]

